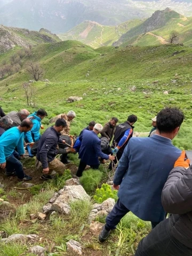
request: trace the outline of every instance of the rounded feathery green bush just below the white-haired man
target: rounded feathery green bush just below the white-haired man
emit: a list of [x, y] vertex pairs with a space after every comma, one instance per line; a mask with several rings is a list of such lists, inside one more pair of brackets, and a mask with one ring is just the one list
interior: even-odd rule
[[99, 183], [101, 182], [102, 175], [102, 172], [92, 169], [83, 172], [80, 182], [87, 193], [94, 191], [95, 188], [98, 187]]

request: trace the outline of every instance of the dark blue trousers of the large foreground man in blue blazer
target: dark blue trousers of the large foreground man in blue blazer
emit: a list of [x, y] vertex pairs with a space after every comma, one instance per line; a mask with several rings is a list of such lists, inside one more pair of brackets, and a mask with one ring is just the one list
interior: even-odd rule
[[[130, 212], [118, 199], [117, 203], [113, 207], [113, 210], [109, 213], [106, 218], [106, 228], [115, 229], [121, 219], [125, 216], [126, 213]], [[159, 222], [151, 222], [152, 228], [155, 228]]]

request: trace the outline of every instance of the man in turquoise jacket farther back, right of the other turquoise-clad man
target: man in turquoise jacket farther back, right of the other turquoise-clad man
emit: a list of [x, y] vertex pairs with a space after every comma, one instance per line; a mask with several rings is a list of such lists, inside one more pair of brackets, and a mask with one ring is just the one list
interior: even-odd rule
[[30, 131], [26, 132], [24, 136], [25, 141], [28, 142], [30, 146], [33, 146], [34, 142], [40, 139], [41, 134], [39, 133], [39, 130], [41, 128], [43, 129], [41, 121], [45, 116], [47, 116], [46, 111], [44, 109], [39, 109], [27, 117], [31, 118], [31, 121], [33, 123], [33, 128]]

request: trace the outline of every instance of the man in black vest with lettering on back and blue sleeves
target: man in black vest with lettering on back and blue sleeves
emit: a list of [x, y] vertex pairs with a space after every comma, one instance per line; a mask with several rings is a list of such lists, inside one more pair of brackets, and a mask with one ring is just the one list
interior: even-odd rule
[[113, 153], [116, 154], [115, 161], [111, 162], [109, 165], [109, 169], [112, 169], [112, 164], [115, 165], [117, 163], [117, 160], [122, 157], [123, 151], [133, 136], [133, 124], [137, 122], [137, 116], [135, 115], [130, 115], [127, 118], [127, 121], [117, 125], [115, 134], [114, 134], [114, 139], [113, 139], [113, 147], [115, 148], [113, 150]]

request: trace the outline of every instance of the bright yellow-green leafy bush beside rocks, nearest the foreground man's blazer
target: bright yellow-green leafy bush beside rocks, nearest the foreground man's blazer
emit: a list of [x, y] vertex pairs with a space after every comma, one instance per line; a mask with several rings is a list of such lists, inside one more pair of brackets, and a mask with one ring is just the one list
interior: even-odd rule
[[96, 189], [96, 193], [93, 197], [95, 201], [101, 204], [108, 198], [114, 198], [117, 201], [117, 190], [112, 190], [108, 184], [102, 184], [101, 188]]

